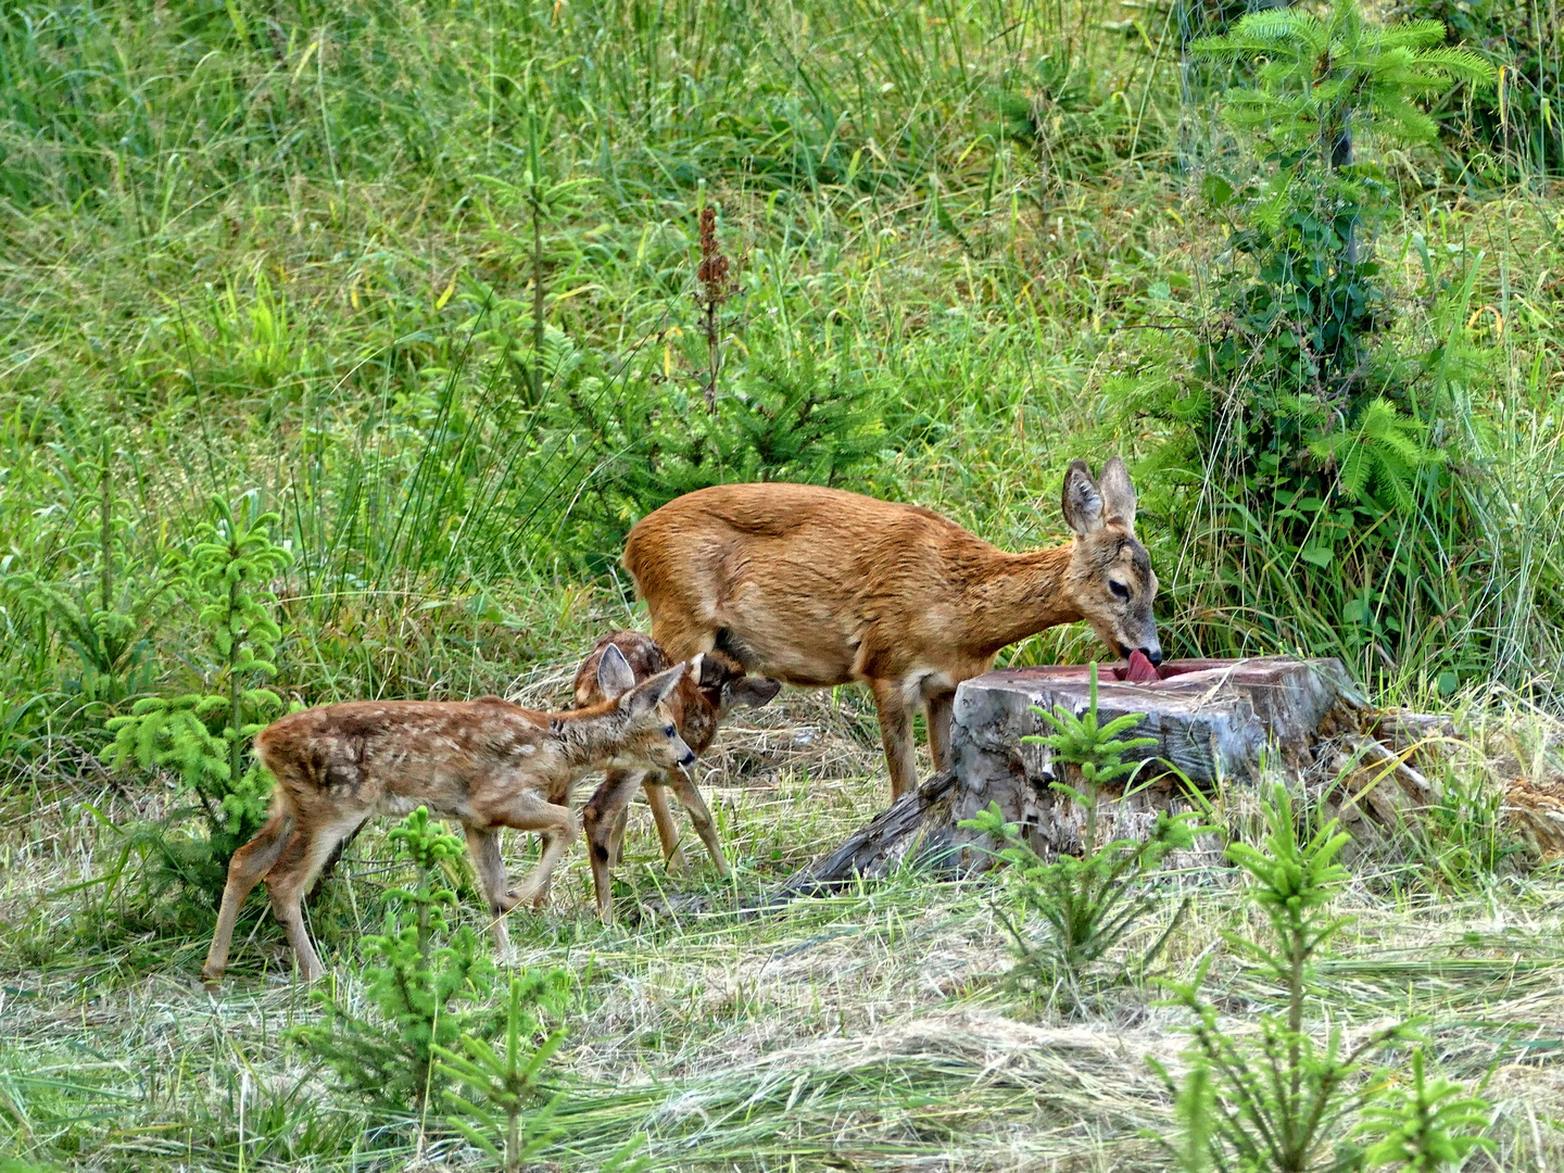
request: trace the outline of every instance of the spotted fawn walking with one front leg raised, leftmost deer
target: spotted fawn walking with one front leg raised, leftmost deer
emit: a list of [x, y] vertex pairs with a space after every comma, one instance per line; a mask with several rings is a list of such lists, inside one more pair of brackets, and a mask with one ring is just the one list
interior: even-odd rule
[[[405, 815], [421, 805], [466, 830], [494, 943], [504, 951], [505, 913], [547, 891], [555, 865], [580, 834], [569, 807], [572, 782], [604, 766], [677, 771], [694, 762], [666, 701], [688, 673], [699, 671], [699, 663], [680, 663], [638, 685], [613, 647], [597, 665], [604, 699], [588, 708], [541, 713], [497, 696], [353, 701], [266, 726], [255, 752], [277, 779], [272, 816], [228, 865], [202, 976], [208, 982], [222, 976], [239, 907], [264, 877], [303, 978], [319, 978], [321, 959], [300, 913], [316, 873], [343, 837], [375, 813]], [[513, 890], [499, 854], [502, 827], [543, 837], [538, 865]]]

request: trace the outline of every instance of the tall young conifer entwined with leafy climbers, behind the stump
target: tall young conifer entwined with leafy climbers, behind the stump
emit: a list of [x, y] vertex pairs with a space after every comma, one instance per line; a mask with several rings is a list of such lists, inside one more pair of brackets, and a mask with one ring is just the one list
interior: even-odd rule
[[[1365, 136], [1429, 141], [1420, 97], [1492, 80], [1444, 36], [1433, 22], [1375, 25], [1337, 0], [1323, 16], [1253, 13], [1192, 45], [1253, 70], [1225, 116], [1257, 172], [1207, 174], [1207, 205], [1231, 242], [1220, 292], [1184, 372], [1148, 380], [1140, 404], [1171, 436], [1154, 461], [1175, 540], [1207, 560], [1196, 580], [1242, 599], [1243, 624], [1209, 632], [1226, 649], [1239, 651], [1239, 627], [1343, 654], [1364, 673], [1462, 654], [1422, 643], [1437, 613], [1429, 583], [1448, 577], [1451, 544], [1476, 529], [1453, 472], [1456, 429], [1440, 416], [1447, 357], [1408, 360], [1384, 343], [1375, 239], [1390, 191], [1381, 167], [1358, 158]], [[1318, 630], [1298, 630], [1300, 612]]]

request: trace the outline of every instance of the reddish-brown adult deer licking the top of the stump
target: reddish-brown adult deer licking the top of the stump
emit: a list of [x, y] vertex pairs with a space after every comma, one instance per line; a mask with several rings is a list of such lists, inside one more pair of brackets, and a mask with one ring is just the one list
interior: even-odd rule
[[1115, 654], [1162, 660], [1157, 577], [1123, 461], [1099, 480], [1073, 461], [1062, 508], [1073, 541], [1006, 554], [918, 505], [719, 485], [643, 518], [624, 566], [669, 655], [718, 649], [787, 683], [866, 683], [899, 798], [917, 784], [913, 707], [926, 708], [935, 768], [949, 768], [956, 685], [1006, 644], [1085, 619]]

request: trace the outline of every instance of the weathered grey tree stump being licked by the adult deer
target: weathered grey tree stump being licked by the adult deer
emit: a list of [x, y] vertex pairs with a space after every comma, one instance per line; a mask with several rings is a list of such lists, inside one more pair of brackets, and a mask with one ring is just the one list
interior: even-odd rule
[[[1104, 790], [1099, 834], [1145, 835], [1159, 810], [1189, 809], [1187, 785], [1231, 793], [1253, 790], [1265, 766], [1323, 773], [1314, 766], [1326, 738], [1333, 765], [1339, 765], [1343, 744], [1345, 752], [1356, 754], [1351, 766], [1361, 765], [1358, 784], [1333, 782], [1328, 796], [1333, 813], [1339, 812], [1348, 829], [1365, 818], [1386, 823], [1409, 802], [1426, 799], [1422, 776], [1378, 741], [1359, 735], [1365, 704], [1337, 660], [1176, 660], [1159, 668], [1160, 679], [1145, 683], [1125, 680], [1125, 674], [1123, 668], [1099, 669], [1098, 715], [1110, 721], [1145, 713], [1135, 735], [1153, 737], [1156, 744], [1137, 751], [1146, 766], [1128, 798], [1123, 790]], [[956, 691], [954, 771], [904, 795], [837, 851], [790, 877], [777, 895], [815, 890], [854, 874], [884, 876], [909, 854], [952, 873], [985, 866], [988, 845], [960, 823], [990, 802], [999, 805], [1006, 821], [1024, 827], [1045, 859], [1079, 852], [1085, 812], [1053, 790], [1056, 780], [1071, 779], [1060, 779], [1060, 763], [1046, 746], [1023, 738], [1051, 732], [1034, 705], [1043, 712], [1064, 705], [1081, 715], [1089, 698], [1087, 668], [1010, 668], [967, 680]], [[1351, 779], [1353, 768], [1333, 777]], [[1386, 777], [1390, 784], [1384, 784]], [[1212, 843], [1193, 859], [1173, 862], [1214, 863], [1217, 851]]]

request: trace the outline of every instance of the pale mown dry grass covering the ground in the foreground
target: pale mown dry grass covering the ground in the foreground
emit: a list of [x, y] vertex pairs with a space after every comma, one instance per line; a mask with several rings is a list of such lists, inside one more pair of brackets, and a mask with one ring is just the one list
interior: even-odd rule
[[[574, 662], [518, 680], [527, 699], [558, 696]], [[1160, 1168], [1148, 1135], [1171, 1106], [1146, 1056], [1176, 1065], [1181, 1015], [1156, 990], [1118, 988], [1064, 1020], [1001, 982], [1009, 965], [990, 881], [931, 885], [901, 874], [774, 913], [740, 904], [884, 802], [885, 779], [863, 699], [788, 691], [721, 738], [708, 787], [735, 863], [724, 888], [699, 856], [669, 876], [644, 812], [632, 823], [621, 895], [644, 915], [591, 920], [580, 854], [552, 907], [513, 917], [513, 963], [576, 978], [560, 1074], [576, 1089], [557, 1159], [590, 1168], [635, 1132], [663, 1168]], [[1508, 744], [1556, 729], [1512, 713]], [[1487, 765], [1520, 762], [1505, 737]], [[1533, 754], [1536, 757], [1536, 752]], [[0, 1004], [0, 1120], [25, 1153], [77, 1148], [81, 1168], [233, 1168], [241, 1115], [246, 1168], [336, 1168], [364, 1160], [466, 1164], [472, 1153], [425, 1121], [360, 1137], [369, 1123], [333, 1103], [322, 1076], [282, 1032], [311, 1015], [263, 920], [236, 948], [217, 996], [196, 971], [205, 942], [135, 934], [99, 909], [116, 832], [156, 802], [111, 788], [13, 788], [5, 796], [0, 890], [9, 926]], [[513, 870], [526, 845], [508, 843]], [[316, 904], [346, 996], [358, 934], [378, 918], [391, 877], [366, 834]], [[1426, 879], [1426, 877], [1425, 877]], [[1218, 949], [1209, 993], [1231, 1029], [1253, 1029], [1273, 992], [1229, 956], [1218, 931], [1243, 923], [1231, 879], [1170, 877], [1195, 895], [1168, 956], [1187, 974]], [[699, 893], [707, 912], [669, 915], [658, 896]], [[1358, 921], [1322, 968], [1331, 1020], [1348, 1032], [1428, 1015], [1450, 1078], [1483, 1082], [1497, 1104], [1490, 1167], [1553, 1168], [1564, 1159], [1564, 896], [1541, 874], [1489, 877], [1439, 893], [1406, 863], [1358, 865], [1343, 899]], [[1168, 901], [1168, 909], [1173, 902]], [[662, 910], [660, 910], [662, 909]], [[471, 909], [469, 909], [471, 912]], [[260, 968], [256, 968], [260, 963]], [[242, 1101], [242, 1112], [241, 1112]], [[419, 1139], [421, 1137], [421, 1139]], [[388, 1148], [389, 1145], [389, 1148]], [[1480, 1167], [1481, 1160], [1473, 1167]]]

